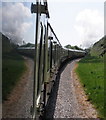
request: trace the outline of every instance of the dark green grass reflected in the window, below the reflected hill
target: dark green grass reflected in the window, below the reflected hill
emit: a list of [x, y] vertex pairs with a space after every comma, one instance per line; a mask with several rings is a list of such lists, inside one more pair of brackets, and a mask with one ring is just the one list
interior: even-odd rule
[[2, 99], [7, 99], [8, 94], [16, 85], [20, 76], [25, 71], [24, 59], [17, 53], [5, 53], [2, 58]]

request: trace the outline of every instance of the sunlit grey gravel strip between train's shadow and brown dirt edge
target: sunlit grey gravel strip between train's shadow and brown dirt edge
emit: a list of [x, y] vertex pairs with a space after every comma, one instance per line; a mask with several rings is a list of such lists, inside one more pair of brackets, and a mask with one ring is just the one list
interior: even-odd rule
[[79, 117], [78, 103], [73, 90], [73, 79], [71, 78], [74, 64], [75, 62], [67, 64], [61, 74], [54, 118]]

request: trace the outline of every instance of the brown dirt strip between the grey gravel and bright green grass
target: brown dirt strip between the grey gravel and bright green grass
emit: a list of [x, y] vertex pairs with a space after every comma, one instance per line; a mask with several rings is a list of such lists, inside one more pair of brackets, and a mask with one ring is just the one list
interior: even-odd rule
[[[76, 60], [78, 62], [79, 60]], [[80, 83], [80, 80], [75, 72], [78, 64], [76, 63], [73, 70], [71, 71], [71, 77], [73, 79], [74, 92], [78, 101], [78, 105], [81, 111], [81, 117], [83, 118], [97, 118], [97, 111], [94, 106], [88, 101], [88, 97], [85, 94], [84, 88]]]

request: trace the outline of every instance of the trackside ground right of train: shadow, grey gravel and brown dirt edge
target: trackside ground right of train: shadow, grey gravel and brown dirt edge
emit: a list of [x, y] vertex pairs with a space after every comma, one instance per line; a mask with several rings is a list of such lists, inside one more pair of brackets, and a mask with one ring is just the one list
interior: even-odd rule
[[82, 94], [83, 89], [78, 87], [80, 83], [74, 72], [76, 62], [64, 66], [58, 76], [47, 106], [47, 118], [97, 118], [95, 109]]

